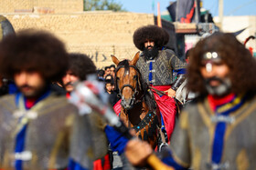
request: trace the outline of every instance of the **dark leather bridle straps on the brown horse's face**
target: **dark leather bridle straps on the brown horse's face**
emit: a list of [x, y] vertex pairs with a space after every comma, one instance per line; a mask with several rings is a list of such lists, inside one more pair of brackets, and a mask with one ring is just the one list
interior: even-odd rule
[[[140, 72], [139, 72], [139, 70], [138, 70], [138, 68], [136, 67], [136, 66], [134, 66], [134, 65], [129, 65], [129, 70], [130, 70], [130, 67], [132, 67], [132, 68], [134, 68], [135, 69], [135, 71], [136, 71], [136, 73], [137, 73], [137, 75], [140, 75]], [[118, 71], [119, 71], [119, 69], [120, 68], [124, 68], [124, 65], [121, 65], [121, 66], [119, 66], [117, 69], [116, 69], [116, 72], [115, 73], [117, 73]], [[133, 105], [136, 105], [137, 103], [140, 103], [141, 102], [141, 100], [139, 99], [139, 100], [136, 100], [135, 99], [135, 96], [136, 95], [138, 95], [139, 94], [139, 91], [138, 91], [138, 85], [140, 84], [140, 82], [139, 82], [139, 77], [137, 77], [136, 78], [136, 85], [135, 85], [135, 88], [132, 86], [132, 85], [130, 85], [130, 84], [125, 84], [125, 85], [123, 85], [122, 87], [121, 87], [121, 89], [120, 89], [120, 92], [119, 92], [119, 96], [121, 96], [121, 98], [122, 98], [122, 103], [123, 103], [123, 100], [124, 100], [124, 96], [122, 95], [123, 94], [123, 88], [124, 87], [130, 87], [131, 89], [132, 89], [132, 91], [133, 91], [133, 95], [132, 95], [132, 98], [131, 98], [131, 102], [130, 102], [130, 107], [132, 108], [133, 107]], [[116, 81], [116, 85], [118, 85], [117, 84], [117, 81]], [[140, 87], [140, 86], [139, 86]], [[143, 97], [143, 96], [142, 96]], [[141, 98], [142, 98], [141, 97]], [[122, 104], [121, 103], [121, 104]]]

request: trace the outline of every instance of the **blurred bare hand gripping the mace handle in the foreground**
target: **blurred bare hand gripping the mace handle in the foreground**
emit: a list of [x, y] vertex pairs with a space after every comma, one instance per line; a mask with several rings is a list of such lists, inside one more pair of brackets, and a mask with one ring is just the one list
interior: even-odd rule
[[147, 158], [152, 153], [151, 146], [139, 139], [130, 140], [125, 147], [125, 155], [132, 165], [146, 165]]

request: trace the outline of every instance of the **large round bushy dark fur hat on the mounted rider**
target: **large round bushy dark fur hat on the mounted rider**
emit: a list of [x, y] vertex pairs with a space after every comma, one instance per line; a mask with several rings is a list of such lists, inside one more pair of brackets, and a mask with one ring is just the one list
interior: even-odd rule
[[140, 49], [144, 50], [144, 43], [147, 40], [155, 42], [158, 48], [162, 48], [169, 41], [169, 35], [165, 29], [157, 25], [146, 25], [139, 27], [133, 34], [133, 43]]

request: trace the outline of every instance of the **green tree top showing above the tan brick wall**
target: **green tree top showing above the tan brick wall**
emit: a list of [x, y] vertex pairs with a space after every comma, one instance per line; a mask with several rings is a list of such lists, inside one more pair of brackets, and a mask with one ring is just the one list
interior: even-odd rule
[[112, 10], [125, 11], [123, 5], [115, 3], [114, 0], [84, 0], [84, 11]]

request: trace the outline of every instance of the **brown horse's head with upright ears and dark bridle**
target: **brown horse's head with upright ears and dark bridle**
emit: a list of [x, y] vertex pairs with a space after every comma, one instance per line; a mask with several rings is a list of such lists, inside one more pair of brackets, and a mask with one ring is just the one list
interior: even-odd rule
[[141, 91], [140, 73], [135, 67], [138, 59], [139, 52], [133, 57], [133, 60], [119, 61], [112, 55], [112, 61], [117, 65], [115, 72], [116, 88], [119, 88], [122, 97], [121, 105], [124, 109], [131, 109], [136, 103], [136, 95]]

